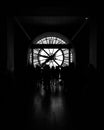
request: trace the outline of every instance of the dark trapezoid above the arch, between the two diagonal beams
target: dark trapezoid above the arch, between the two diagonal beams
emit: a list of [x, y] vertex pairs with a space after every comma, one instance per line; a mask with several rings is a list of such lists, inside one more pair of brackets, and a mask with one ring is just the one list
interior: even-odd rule
[[88, 20], [85, 16], [15, 16], [17, 25], [32, 39], [36, 32], [59, 32], [71, 39]]

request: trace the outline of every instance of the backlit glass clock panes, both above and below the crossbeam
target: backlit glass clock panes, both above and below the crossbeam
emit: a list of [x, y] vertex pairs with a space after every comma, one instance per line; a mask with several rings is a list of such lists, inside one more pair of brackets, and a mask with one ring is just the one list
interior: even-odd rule
[[[39, 40], [36, 44], [65, 44], [65, 42], [59, 38], [47, 37]], [[33, 55], [33, 56], [32, 56]], [[69, 66], [69, 49], [68, 48], [33, 48], [29, 50], [29, 62], [34, 67], [44, 67], [48, 65], [52, 67], [65, 67]]]

